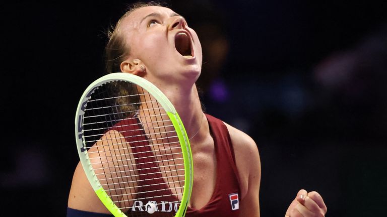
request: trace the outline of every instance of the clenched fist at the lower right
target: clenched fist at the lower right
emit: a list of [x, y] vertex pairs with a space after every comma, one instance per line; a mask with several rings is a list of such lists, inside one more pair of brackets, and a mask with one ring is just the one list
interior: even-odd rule
[[327, 206], [321, 195], [315, 191], [300, 190], [286, 210], [285, 217], [324, 217]]

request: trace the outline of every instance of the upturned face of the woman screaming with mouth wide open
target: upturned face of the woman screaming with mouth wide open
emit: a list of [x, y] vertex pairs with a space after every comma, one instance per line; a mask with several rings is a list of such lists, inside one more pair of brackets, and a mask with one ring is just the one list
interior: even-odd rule
[[130, 47], [128, 59], [139, 59], [148, 80], [182, 82], [199, 77], [202, 47], [195, 31], [172, 10], [151, 6], [135, 10], [120, 25]]

